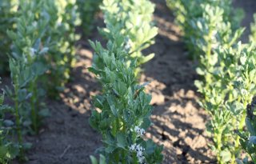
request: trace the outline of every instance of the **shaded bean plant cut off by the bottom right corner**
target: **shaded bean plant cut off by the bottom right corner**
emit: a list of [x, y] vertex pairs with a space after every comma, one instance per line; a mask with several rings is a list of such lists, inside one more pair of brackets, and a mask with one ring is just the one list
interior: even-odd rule
[[243, 160], [237, 159], [238, 164], [253, 164], [256, 163], [256, 101], [247, 105], [246, 108], [246, 131], [238, 132], [240, 135], [240, 143], [243, 150], [249, 155], [249, 157]]

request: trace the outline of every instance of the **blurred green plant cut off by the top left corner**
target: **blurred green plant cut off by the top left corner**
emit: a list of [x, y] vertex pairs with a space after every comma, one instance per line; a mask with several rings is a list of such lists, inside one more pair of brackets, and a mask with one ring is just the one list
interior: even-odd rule
[[14, 16], [18, 10], [18, 0], [0, 0], [0, 74], [8, 70], [7, 54], [10, 53], [11, 40], [6, 31], [14, 29]]

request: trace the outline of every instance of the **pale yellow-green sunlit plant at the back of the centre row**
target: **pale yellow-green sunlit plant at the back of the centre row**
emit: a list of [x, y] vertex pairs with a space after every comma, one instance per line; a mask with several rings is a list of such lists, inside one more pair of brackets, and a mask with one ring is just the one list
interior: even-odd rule
[[[153, 26], [154, 4], [148, 0], [103, 0], [101, 9], [104, 13], [106, 28], [101, 32], [109, 40], [114, 40], [110, 30], [120, 31], [126, 36], [125, 48], [129, 50], [127, 58], [137, 58], [141, 65], [154, 58], [154, 54], [144, 56], [142, 50], [154, 43], [158, 28]], [[136, 74], [139, 69], [136, 69]]]

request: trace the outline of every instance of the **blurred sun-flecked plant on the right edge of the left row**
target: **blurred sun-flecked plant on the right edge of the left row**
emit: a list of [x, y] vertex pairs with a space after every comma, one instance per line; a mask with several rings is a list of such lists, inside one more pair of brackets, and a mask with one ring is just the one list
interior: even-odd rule
[[[49, 67], [43, 83], [50, 97], [58, 97], [70, 80], [70, 71], [76, 62], [75, 42], [79, 35], [75, 33], [76, 26], [81, 21], [75, 0], [45, 1], [49, 18], [47, 38], [52, 42], [46, 55], [46, 65]], [[46, 40], [47, 38], [44, 38]]]

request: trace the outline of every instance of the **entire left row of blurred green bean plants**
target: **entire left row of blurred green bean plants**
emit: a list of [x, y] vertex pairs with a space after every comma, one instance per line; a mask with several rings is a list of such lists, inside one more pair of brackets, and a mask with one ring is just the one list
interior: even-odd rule
[[[0, 1], [0, 72], [10, 72], [12, 83], [0, 96], [1, 163], [16, 157], [26, 161], [24, 151], [31, 144], [23, 136], [38, 134], [42, 118], [49, 114], [43, 102], [46, 94], [58, 98], [70, 80], [76, 60], [74, 45], [80, 38], [75, 32], [83, 24], [83, 13], [89, 12], [87, 3], [90, 1]], [[3, 105], [5, 95], [10, 106]]]

